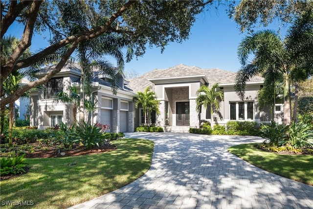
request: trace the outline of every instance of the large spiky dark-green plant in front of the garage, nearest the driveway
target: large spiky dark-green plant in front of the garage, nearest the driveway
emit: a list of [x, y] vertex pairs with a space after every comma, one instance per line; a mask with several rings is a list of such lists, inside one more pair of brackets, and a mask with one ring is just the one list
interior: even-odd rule
[[99, 143], [104, 140], [101, 128], [97, 125], [86, 123], [85, 121], [82, 126], [77, 126], [76, 134], [87, 149], [99, 146]]

